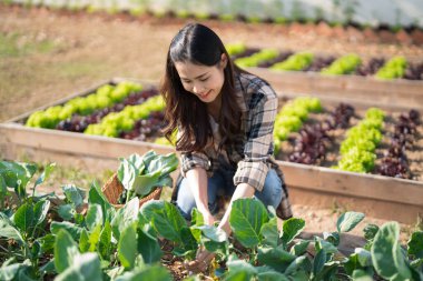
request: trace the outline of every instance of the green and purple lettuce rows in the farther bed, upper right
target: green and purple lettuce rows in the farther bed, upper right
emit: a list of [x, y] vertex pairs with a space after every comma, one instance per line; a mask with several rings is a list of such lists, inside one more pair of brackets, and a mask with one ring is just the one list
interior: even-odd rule
[[268, 68], [274, 71], [313, 71], [322, 74], [355, 74], [375, 79], [423, 79], [423, 62], [409, 62], [404, 57], [368, 58], [363, 60], [355, 53], [341, 57], [312, 52], [248, 48], [244, 43], [227, 46], [235, 63], [242, 68]]

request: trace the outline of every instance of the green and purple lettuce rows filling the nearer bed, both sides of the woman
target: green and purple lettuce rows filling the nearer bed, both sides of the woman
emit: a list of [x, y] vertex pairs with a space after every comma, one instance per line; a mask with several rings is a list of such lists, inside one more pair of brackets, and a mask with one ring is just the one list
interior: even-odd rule
[[[278, 160], [422, 181], [422, 120], [417, 110], [356, 110], [298, 97], [281, 102], [275, 122]], [[170, 144], [160, 137], [158, 91], [134, 82], [105, 84], [86, 97], [33, 112], [27, 127]], [[283, 148], [283, 149], [281, 149]]]

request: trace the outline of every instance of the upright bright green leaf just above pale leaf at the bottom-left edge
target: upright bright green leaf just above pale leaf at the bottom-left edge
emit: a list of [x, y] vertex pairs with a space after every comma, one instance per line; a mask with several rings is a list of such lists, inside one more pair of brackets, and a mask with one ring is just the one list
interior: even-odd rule
[[61, 229], [55, 241], [55, 267], [57, 272], [61, 273], [70, 268], [79, 259], [78, 245], [72, 237]]

